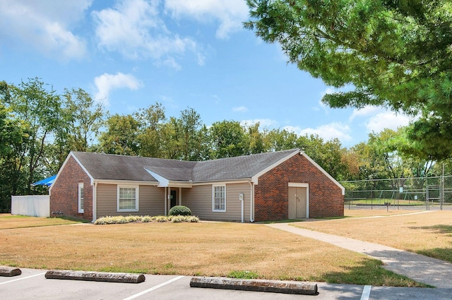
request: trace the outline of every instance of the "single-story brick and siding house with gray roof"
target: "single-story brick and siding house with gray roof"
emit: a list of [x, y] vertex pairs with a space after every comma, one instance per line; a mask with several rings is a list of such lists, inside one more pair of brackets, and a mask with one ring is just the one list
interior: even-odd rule
[[52, 216], [167, 215], [259, 222], [344, 214], [345, 189], [299, 149], [202, 162], [71, 152], [49, 189]]

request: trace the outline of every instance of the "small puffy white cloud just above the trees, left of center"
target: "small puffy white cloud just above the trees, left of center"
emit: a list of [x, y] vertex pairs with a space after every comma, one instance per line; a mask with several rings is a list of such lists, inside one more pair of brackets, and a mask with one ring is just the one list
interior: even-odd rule
[[129, 90], [138, 90], [142, 84], [130, 74], [117, 73], [116, 75], [103, 73], [94, 78], [94, 84], [97, 88], [95, 100], [108, 104], [108, 96], [112, 90], [119, 88], [129, 88]]

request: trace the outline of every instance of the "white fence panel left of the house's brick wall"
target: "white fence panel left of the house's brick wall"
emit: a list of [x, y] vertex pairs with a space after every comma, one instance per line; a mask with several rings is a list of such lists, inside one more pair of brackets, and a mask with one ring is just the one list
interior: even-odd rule
[[11, 196], [11, 215], [50, 217], [50, 196]]

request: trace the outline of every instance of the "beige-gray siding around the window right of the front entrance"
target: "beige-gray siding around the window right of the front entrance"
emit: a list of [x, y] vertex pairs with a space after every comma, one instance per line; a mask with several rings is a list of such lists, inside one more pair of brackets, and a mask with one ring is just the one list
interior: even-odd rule
[[249, 184], [226, 184], [226, 211], [214, 212], [212, 209], [212, 185], [184, 188], [182, 191], [182, 205], [190, 208], [192, 215], [201, 220], [242, 220], [242, 203], [239, 193], [244, 194], [244, 220], [249, 222], [250, 195]]

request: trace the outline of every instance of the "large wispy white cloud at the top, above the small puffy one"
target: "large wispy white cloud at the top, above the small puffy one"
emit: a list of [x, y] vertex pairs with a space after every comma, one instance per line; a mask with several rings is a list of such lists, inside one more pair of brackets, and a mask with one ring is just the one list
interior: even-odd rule
[[[198, 47], [194, 40], [169, 32], [158, 6], [157, 0], [123, 0], [114, 8], [93, 11], [99, 46], [129, 59], [161, 59], [186, 50], [201, 55], [196, 53]], [[174, 62], [169, 57], [164, 64], [180, 68]]]

